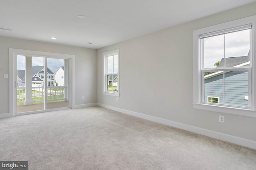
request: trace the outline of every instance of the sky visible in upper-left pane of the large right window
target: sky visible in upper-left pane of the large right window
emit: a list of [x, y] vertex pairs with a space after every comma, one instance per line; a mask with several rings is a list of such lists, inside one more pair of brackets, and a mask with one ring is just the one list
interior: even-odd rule
[[204, 38], [203, 43], [204, 68], [216, 68], [216, 63], [224, 58], [224, 35]]

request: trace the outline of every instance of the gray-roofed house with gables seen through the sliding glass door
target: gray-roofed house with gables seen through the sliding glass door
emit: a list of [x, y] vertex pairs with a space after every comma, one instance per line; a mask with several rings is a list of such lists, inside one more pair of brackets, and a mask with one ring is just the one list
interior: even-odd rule
[[[42, 87], [44, 84], [44, 66], [32, 66], [32, 87]], [[55, 74], [47, 68], [47, 86], [55, 86]], [[25, 87], [25, 70], [17, 70], [18, 87]]]

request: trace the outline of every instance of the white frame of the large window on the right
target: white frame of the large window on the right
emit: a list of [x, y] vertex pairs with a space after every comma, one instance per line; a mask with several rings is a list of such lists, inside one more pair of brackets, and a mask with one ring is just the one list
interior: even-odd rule
[[[252, 25], [251, 29], [251, 42], [250, 42], [250, 69], [248, 72], [249, 78], [249, 107], [239, 107], [239, 106], [228, 106], [221, 104], [211, 104], [203, 102], [202, 88], [202, 71], [201, 71], [201, 51], [200, 51], [200, 36], [204, 34], [216, 33], [217, 31], [228, 30], [231, 28], [239, 27], [242, 25]], [[217, 34], [217, 33], [216, 33]], [[242, 18], [239, 20], [229, 21], [226, 23], [221, 23], [218, 25], [213, 25], [210, 27], [194, 30], [193, 38], [193, 106], [195, 109], [203, 109], [207, 111], [215, 111], [221, 113], [228, 113], [233, 115], [241, 115], [247, 117], [256, 117], [256, 16], [250, 16]], [[230, 69], [232, 70], [232, 69]], [[251, 73], [251, 74], [250, 74]]]

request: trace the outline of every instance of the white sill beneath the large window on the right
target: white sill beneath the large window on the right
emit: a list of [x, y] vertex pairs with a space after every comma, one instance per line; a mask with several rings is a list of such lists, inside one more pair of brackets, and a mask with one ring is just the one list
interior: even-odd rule
[[216, 106], [216, 105], [209, 105], [209, 104], [193, 104], [194, 109], [201, 109], [207, 111], [214, 111], [220, 113], [227, 113], [232, 115], [240, 115], [245, 117], [255, 117], [256, 118], [256, 111], [249, 108], [237, 108], [237, 107], [229, 107], [229, 106]]

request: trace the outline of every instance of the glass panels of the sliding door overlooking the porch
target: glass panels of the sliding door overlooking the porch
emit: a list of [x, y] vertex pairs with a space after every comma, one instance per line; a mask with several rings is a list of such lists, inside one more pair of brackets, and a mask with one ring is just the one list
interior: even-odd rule
[[16, 62], [17, 114], [70, 107], [70, 59], [17, 55]]

